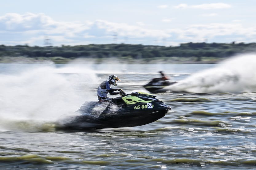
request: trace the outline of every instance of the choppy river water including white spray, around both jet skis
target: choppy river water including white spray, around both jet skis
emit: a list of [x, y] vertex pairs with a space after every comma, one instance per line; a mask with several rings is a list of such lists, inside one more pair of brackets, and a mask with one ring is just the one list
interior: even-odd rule
[[[219, 64], [0, 64], [0, 169], [252, 169], [256, 165], [256, 56]], [[156, 122], [56, 131], [110, 74], [126, 93], [164, 71], [155, 94], [171, 106]], [[115, 97], [115, 96], [110, 96]]]

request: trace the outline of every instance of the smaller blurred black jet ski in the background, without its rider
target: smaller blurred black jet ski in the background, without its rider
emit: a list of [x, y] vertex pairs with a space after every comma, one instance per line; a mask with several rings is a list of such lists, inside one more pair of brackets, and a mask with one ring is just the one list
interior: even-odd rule
[[148, 90], [150, 93], [164, 93], [167, 92], [169, 89], [166, 87], [177, 83], [177, 81], [169, 82], [166, 80], [162, 80], [161, 78], [154, 78], [148, 84], [144, 85], [143, 87]]

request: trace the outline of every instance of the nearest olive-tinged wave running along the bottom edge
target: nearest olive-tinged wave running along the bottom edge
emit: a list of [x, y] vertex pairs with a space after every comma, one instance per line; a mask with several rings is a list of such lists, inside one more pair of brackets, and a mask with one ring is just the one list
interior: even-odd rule
[[[20, 150], [20, 148], [18, 148]], [[108, 157], [111, 158], [111, 155], [108, 155]], [[115, 155], [113, 155], [115, 157]], [[77, 167], [80, 166], [81, 164], [89, 164], [89, 165], [98, 165], [98, 166], [118, 166], [118, 167], [127, 167], [127, 166], [132, 166], [132, 167], [151, 167], [154, 166], [167, 166], [167, 165], [175, 165], [176, 166], [185, 166], [185, 165], [194, 165], [198, 167], [204, 167], [207, 168], [209, 165], [217, 165], [221, 167], [226, 167], [229, 166], [230, 168], [232, 167], [237, 167], [239, 166], [242, 168], [243, 166], [254, 166], [256, 165], [256, 160], [245, 160], [245, 159], [234, 159], [234, 160], [207, 160], [207, 159], [189, 159], [189, 158], [175, 158], [175, 159], [166, 159], [166, 158], [151, 158], [151, 157], [146, 157], [143, 158], [141, 157], [140, 159], [120, 159], [120, 161], [89, 161], [89, 160], [83, 160], [81, 158], [75, 159], [75, 158], [67, 158], [67, 157], [61, 157], [61, 156], [40, 156], [37, 154], [25, 154], [22, 156], [8, 156], [8, 157], [0, 157], [0, 162], [4, 165], [6, 168], [7, 166], [12, 167], [13, 164], [15, 165], [21, 165], [26, 164], [33, 166], [33, 165], [40, 165], [43, 166], [49, 165], [49, 164], [58, 164], [58, 166], [64, 166], [64, 164], [72, 164], [72, 166]], [[124, 164], [124, 162], [128, 162], [129, 165]], [[156, 165], [156, 163], [161, 164], [161, 165]], [[8, 165], [9, 164], [9, 165]], [[1, 166], [0, 166], [1, 167]], [[13, 168], [13, 167], [12, 167]], [[152, 167], [153, 168], [153, 167]], [[165, 167], [166, 168], [166, 167]]]

